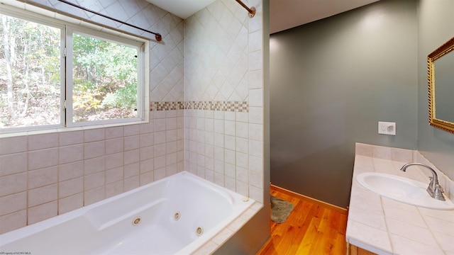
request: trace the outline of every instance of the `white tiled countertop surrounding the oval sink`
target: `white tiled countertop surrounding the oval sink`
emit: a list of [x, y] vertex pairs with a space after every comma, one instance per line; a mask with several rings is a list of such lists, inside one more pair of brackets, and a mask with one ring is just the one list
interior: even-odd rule
[[[356, 145], [345, 234], [348, 243], [376, 254], [454, 255], [454, 210], [400, 203], [369, 191], [356, 181], [358, 174], [375, 171], [428, 183], [431, 174], [419, 167], [399, 171], [409, 162], [430, 164], [424, 161], [417, 151]], [[454, 182], [440, 171], [438, 175], [445, 194], [453, 200]]]

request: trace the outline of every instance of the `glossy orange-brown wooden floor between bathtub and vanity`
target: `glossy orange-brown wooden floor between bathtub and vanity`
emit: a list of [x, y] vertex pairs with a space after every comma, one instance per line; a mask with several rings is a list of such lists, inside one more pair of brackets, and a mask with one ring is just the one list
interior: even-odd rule
[[320, 203], [311, 203], [292, 193], [271, 187], [272, 196], [294, 205], [284, 223], [270, 220], [271, 239], [258, 255], [319, 255], [346, 253], [346, 211], [333, 210]]

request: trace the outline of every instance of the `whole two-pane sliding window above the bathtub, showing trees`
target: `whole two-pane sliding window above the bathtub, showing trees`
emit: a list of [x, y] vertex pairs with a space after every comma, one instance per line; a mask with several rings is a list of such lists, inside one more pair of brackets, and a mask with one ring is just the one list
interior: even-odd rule
[[146, 119], [143, 40], [0, 17], [0, 132]]

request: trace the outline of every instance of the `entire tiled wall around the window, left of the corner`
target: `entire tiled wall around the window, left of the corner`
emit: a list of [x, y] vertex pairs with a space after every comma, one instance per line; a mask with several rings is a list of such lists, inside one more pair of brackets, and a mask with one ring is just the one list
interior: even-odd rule
[[[57, 17], [63, 17], [57, 13], [71, 13], [84, 21], [154, 38], [59, 1], [26, 2], [55, 11]], [[12, 3], [40, 11], [21, 1]], [[184, 100], [181, 18], [141, 0], [74, 3], [160, 33], [162, 42], [152, 40], [149, 49], [150, 106]], [[150, 111], [148, 124], [1, 138], [0, 233], [183, 171], [183, 114], [177, 109]]]

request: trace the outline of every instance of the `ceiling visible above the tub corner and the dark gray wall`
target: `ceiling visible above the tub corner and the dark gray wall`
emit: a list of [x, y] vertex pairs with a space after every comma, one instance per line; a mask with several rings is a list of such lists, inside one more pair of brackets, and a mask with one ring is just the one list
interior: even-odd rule
[[[216, 0], [146, 1], [184, 19]], [[327, 18], [375, 1], [378, 0], [270, 0], [270, 33]]]

